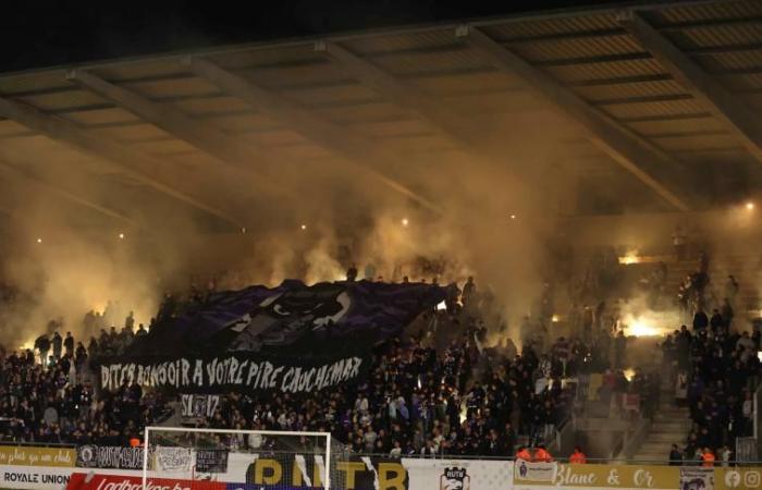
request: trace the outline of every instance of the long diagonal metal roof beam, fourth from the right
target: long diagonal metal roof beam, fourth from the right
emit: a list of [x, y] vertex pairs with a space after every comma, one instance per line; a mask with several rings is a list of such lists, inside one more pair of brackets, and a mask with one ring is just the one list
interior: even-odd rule
[[[370, 158], [383, 164], [384, 162], [395, 159], [394, 155], [378, 148], [364, 136], [327, 119], [315, 115], [309, 110], [283, 96], [262, 88], [237, 74], [220, 68], [209, 60], [197, 57], [186, 57], [183, 59], [183, 63], [186, 64], [193, 73], [207, 79], [226, 94], [246, 101], [258, 111], [280, 119], [287, 124], [290, 128], [294, 128], [308, 139], [349, 160], [361, 162]], [[441, 208], [438, 205], [379, 171], [368, 168], [365, 164], [355, 164], [353, 169], [369, 174], [372, 179], [382, 182], [384, 185], [430, 210], [441, 212]]]

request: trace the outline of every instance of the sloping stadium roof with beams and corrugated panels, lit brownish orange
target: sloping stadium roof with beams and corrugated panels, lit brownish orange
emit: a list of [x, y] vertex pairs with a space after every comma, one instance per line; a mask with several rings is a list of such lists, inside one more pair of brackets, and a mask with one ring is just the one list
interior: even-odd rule
[[438, 210], [407, 164], [468, 158], [537, 181], [486, 139], [549, 120], [565, 130], [542, 171], [598, 196], [577, 212], [700, 209], [760, 191], [762, 2], [567, 10], [0, 74], [0, 170], [5, 187], [128, 222], [151, 201], [245, 226], [262, 206], [255, 194], [298, 198], [286, 175], [300, 166]]

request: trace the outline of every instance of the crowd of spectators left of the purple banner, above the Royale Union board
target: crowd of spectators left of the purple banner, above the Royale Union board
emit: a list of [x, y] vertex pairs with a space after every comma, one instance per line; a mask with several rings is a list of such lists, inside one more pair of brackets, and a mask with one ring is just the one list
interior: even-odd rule
[[137, 385], [96, 395], [82, 344], [72, 352], [73, 339], [66, 336], [60, 352], [56, 336], [46, 364], [32, 350], [0, 359], [3, 442], [122, 445], [146, 424], [167, 417], [161, 394], [143, 393]]

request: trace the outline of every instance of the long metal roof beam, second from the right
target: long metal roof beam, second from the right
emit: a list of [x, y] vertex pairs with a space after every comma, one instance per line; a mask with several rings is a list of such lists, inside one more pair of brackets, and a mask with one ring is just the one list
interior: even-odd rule
[[[683, 211], [690, 208], [686, 200], [679, 197], [681, 193], [668, 187], [655, 176], [655, 169], [662, 172], [674, 172], [677, 167], [677, 162], [666, 154], [634, 132], [622, 127], [610, 117], [592, 108], [578, 95], [560, 85], [550, 75], [508, 51], [478, 28], [463, 26], [456, 30], [456, 35], [490, 60], [495, 68], [511, 75], [519, 76], [534, 91], [579, 122], [588, 131], [590, 140], [597, 147], [672, 207]], [[678, 182], [674, 176], [671, 181]]]

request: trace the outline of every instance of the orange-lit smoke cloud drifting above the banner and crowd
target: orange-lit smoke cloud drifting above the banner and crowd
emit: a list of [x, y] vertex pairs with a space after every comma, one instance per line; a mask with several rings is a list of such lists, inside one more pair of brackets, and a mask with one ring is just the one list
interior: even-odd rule
[[[220, 226], [210, 231], [208, 218], [205, 222], [197, 211], [167, 196], [96, 176], [98, 160], [91, 156], [82, 155], [81, 161], [41, 137], [14, 143], [0, 150], [0, 158], [107, 203], [136, 225], [125, 226], [39, 189], [11, 196], [14, 217], [8, 222], [3, 282], [28, 301], [5, 311], [3, 339], [17, 346], [58, 317], [64, 331], [76, 333], [85, 313], [102, 310], [108, 302], [119, 303], [119, 315], [110, 321], [121, 328], [130, 310], [138, 322], [148, 322], [167, 291], [182, 294], [190, 285], [204, 289], [210, 283], [218, 289], [272, 285], [288, 278], [334, 281], [351, 265], [360, 278], [386, 281], [435, 278], [442, 284], [462, 284], [474, 275], [481, 291], [494, 295], [515, 334], [514, 327], [532, 309], [548, 279], [546, 243], [560, 203], [574, 198], [569, 193], [575, 186], [567, 185], [566, 174], [553, 170], [576, 130], [553, 114], [476, 118], [468, 124], [464, 134], [478, 135], [471, 149], [411, 154], [409, 142], [384, 139], [379, 144], [400, 160], [383, 167], [322, 157], [268, 168], [297, 199], [273, 197], [254, 181], [204, 180], [204, 172], [212, 170], [194, 170], [198, 179], [193, 182], [206, 183], [185, 191], [223, 200], [226, 196], [230, 208], [243, 212], [245, 232]], [[70, 157], [59, 157], [64, 154]], [[170, 157], [167, 166], [186, 171]], [[353, 166], [397, 180], [437, 203], [442, 212], [421, 207], [367, 172], [353, 171]]]

